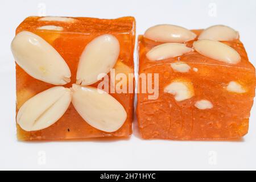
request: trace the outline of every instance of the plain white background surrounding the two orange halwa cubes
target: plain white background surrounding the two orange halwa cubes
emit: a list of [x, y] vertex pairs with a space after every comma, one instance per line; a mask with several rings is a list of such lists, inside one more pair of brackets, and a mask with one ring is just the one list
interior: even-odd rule
[[256, 169], [255, 105], [251, 110], [249, 134], [240, 142], [142, 140], [138, 137], [136, 126], [134, 135], [128, 140], [18, 142], [15, 129], [15, 67], [10, 43], [15, 28], [24, 18], [45, 14], [97, 18], [131, 15], [137, 20], [137, 35], [160, 23], [189, 29], [226, 24], [240, 31], [249, 59], [256, 65], [254, 0], [1, 0], [0, 169]]

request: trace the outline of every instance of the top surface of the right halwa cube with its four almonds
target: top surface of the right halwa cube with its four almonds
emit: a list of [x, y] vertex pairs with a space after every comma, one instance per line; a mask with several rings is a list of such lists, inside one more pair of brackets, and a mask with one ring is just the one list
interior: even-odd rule
[[[173, 32], [173, 36], [170, 32]], [[238, 32], [226, 26], [212, 26], [205, 30], [191, 31], [168, 24], [154, 26], [148, 28], [144, 36], [139, 36], [139, 49], [141, 69], [151, 67], [156, 62], [160, 64], [181, 60], [192, 64], [228, 66], [255, 71], [239, 40]], [[167, 49], [173, 49], [174, 52]]]

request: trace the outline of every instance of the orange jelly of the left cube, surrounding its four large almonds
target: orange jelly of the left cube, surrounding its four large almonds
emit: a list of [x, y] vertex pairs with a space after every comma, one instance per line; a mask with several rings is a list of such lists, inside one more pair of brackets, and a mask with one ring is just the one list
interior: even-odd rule
[[[71, 82], [65, 86], [70, 88], [76, 83], [76, 71], [80, 55], [85, 46], [97, 36], [112, 34], [120, 44], [118, 61], [126, 67], [134, 69], [133, 51], [135, 44], [135, 19], [123, 17], [118, 19], [97, 19], [97, 18], [74, 18], [74, 22], [41, 21], [40, 17], [31, 16], [26, 18], [16, 29], [30, 31], [41, 36], [63, 57], [71, 69]], [[61, 31], [39, 30], [42, 26], [63, 27]], [[121, 69], [122, 70], [122, 69]], [[97, 86], [99, 82], [92, 86]], [[19, 65], [16, 64], [16, 113], [32, 96], [51, 88], [51, 84], [36, 80], [29, 76]], [[85, 139], [94, 137], [129, 137], [131, 134], [131, 122], [133, 119], [133, 93], [110, 93], [126, 110], [127, 119], [123, 126], [113, 132], [106, 133], [90, 126], [82, 119], [71, 104], [65, 114], [46, 129], [39, 131], [24, 131], [17, 124], [17, 135], [19, 140], [62, 140], [62, 139]]]

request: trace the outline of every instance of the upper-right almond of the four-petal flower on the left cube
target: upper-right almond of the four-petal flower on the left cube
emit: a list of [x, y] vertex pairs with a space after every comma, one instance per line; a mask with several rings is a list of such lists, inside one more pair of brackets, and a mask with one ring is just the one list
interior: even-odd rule
[[91, 85], [101, 80], [104, 77], [102, 73], [109, 73], [114, 67], [119, 51], [119, 42], [113, 35], [105, 34], [93, 39], [80, 57], [76, 83]]

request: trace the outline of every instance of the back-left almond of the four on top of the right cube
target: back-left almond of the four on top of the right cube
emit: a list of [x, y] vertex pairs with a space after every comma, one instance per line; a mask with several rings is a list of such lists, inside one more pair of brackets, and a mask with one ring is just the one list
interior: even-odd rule
[[144, 33], [144, 37], [156, 42], [183, 43], [196, 38], [196, 34], [187, 28], [171, 24], [159, 24], [150, 27]]

